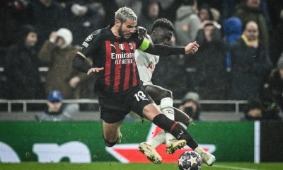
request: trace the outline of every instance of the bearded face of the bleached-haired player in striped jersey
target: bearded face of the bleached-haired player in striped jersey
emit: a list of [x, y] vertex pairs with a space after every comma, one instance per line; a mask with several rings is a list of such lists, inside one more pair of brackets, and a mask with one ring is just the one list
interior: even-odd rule
[[134, 33], [134, 27], [137, 26], [137, 21], [132, 21], [127, 18], [127, 21], [125, 23], [121, 23], [118, 31], [121, 38], [124, 38], [125, 40], [129, 39]]

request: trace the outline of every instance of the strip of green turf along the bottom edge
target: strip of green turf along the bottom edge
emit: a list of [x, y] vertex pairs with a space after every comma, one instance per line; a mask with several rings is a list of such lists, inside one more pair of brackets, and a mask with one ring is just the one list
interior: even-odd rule
[[[279, 170], [282, 169], [283, 163], [243, 163], [243, 162], [217, 162], [214, 166], [203, 166], [202, 170]], [[99, 162], [91, 164], [40, 164], [40, 163], [21, 163], [21, 164], [0, 164], [1, 170], [163, 170], [176, 169], [177, 164], [120, 164], [117, 162]]]

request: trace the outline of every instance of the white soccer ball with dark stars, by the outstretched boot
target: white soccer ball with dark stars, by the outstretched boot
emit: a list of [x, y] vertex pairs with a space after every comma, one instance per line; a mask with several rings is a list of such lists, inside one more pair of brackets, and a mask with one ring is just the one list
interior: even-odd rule
[[200, 170], [202, 169], [202, 157], [194, 151], [186, 151], [178, 159], [180, 170]]

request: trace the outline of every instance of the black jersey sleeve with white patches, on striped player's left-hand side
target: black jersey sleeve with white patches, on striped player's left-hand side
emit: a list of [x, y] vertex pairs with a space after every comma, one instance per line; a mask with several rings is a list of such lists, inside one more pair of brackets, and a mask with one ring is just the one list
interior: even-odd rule
[[84, 40], [81, 44], [80, 50], [76, 52], [76, 55], [79, 55], [83, 58], [83, 60], [85, 60], [91, 54], [95, 54], [101, 42], [100, 32], [101, 30], [96, 30], [95, 32], [91, 33], [91, 35], [88, 35], [86, 40]]

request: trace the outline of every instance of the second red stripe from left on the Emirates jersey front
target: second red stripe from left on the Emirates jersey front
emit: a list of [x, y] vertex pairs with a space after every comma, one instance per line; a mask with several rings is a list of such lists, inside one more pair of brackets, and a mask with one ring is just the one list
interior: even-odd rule
[[[116, 46], [116, 54], [121, 54], [121, 50], [119, 47], [119, 42], [114, 42]], [[115, 59], [115, 80], [114, 80], [114, 92], [119, 92], [119, 84], [120, 84], [120, 77], [121, 77], [121, 67], [122, 67], [122, 59]]]

